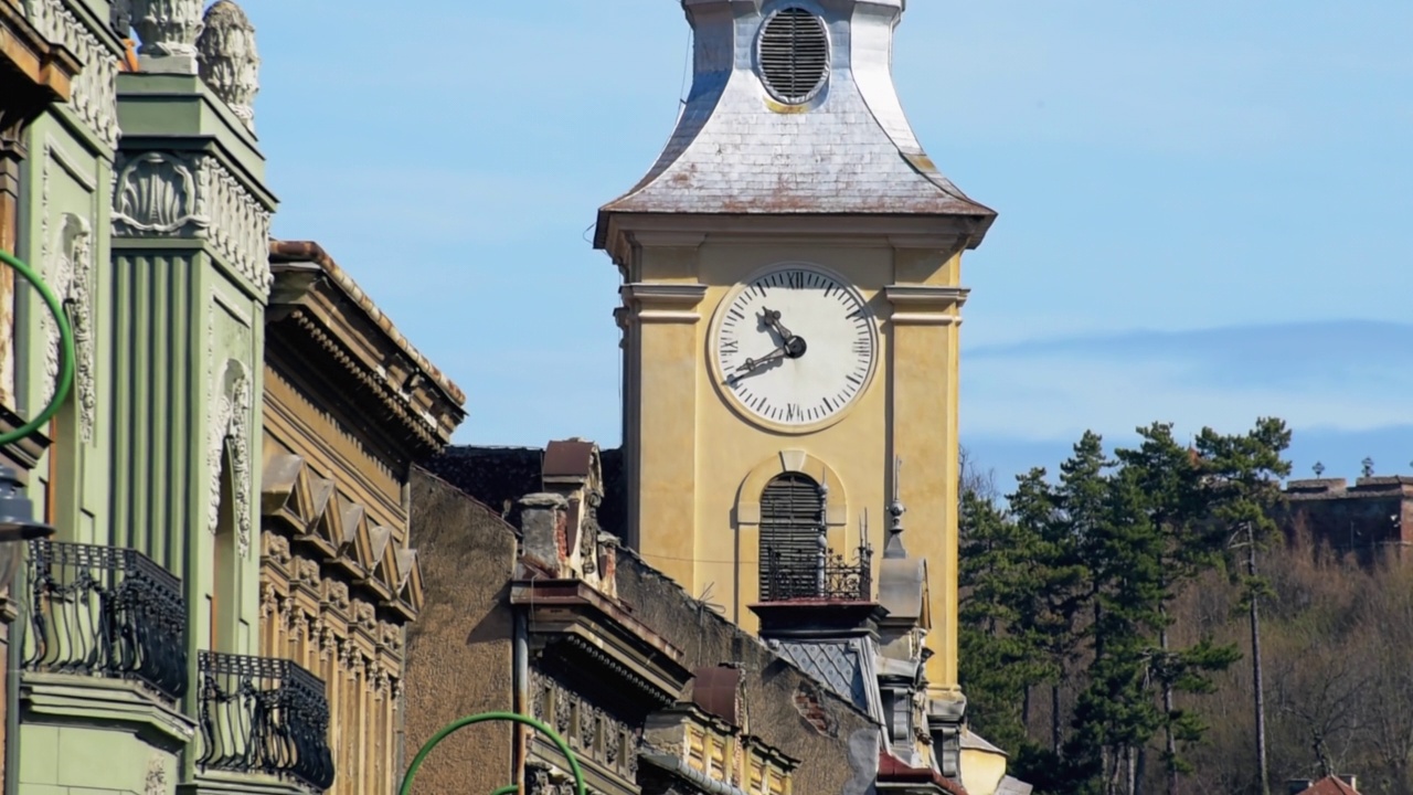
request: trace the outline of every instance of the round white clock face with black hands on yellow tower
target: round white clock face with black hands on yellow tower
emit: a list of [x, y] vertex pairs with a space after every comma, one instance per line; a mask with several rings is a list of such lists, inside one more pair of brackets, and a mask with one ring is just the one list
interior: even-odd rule
[[746, 416], [790, 430], [836, 419], [873, 375], [877, 330], [863, 297], [838, 276], [784, 265], [716, 310], [711, 355]]

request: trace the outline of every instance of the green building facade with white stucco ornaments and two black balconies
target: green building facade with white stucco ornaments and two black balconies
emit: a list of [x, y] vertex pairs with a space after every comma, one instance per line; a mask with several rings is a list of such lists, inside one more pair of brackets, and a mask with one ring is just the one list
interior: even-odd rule
[[[13, 590], [6, 792], [322, 789], [324, 683], [256, 656], [276, 199], [253, 30], [229, 0], [18, 1], [81, 64], [25, 132], [17, 235], [76, 368], [30, 474], [58, 533]], [[28, 417], [58, 330], [32, 290], [14, 313]]]

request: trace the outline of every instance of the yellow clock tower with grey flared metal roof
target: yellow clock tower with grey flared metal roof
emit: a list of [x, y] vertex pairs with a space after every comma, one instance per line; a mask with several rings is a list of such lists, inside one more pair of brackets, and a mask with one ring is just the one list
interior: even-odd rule
[[906, 0], [681, 1], [691, 95], [595, 233], [623, 277], [627, 540], [750, 628], [766, 562], [859, 549], [897, 497], [955, 699], [961, 253], [995, 212], [903, 115]]

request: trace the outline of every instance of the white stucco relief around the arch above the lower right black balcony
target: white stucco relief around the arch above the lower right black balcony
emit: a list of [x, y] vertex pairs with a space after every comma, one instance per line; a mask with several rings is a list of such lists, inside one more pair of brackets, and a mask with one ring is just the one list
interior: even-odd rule
[[219, 379], [212, 385], [215, 406], [211, 417], [211, 434], [206, 443], [206, 467], [211, 474], [206, 521], [212, 535], [220, 522], [220, 472], [223, 454], [230, 451], [230, 478], [235, 492], [236, 540], [240, 556], [250, 555], [250, 413], [252, 386], [246, 366], [236, 359], [226, 359]]

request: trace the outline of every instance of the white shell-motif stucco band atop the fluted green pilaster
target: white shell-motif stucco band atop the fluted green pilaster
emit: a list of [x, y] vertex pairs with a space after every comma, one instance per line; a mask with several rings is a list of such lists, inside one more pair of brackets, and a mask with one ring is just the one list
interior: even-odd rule
[[123, 158], [113, 233], [211, 240], [242, 276], [270, 290], [270, 212], [215, 157], [147, 151]]

